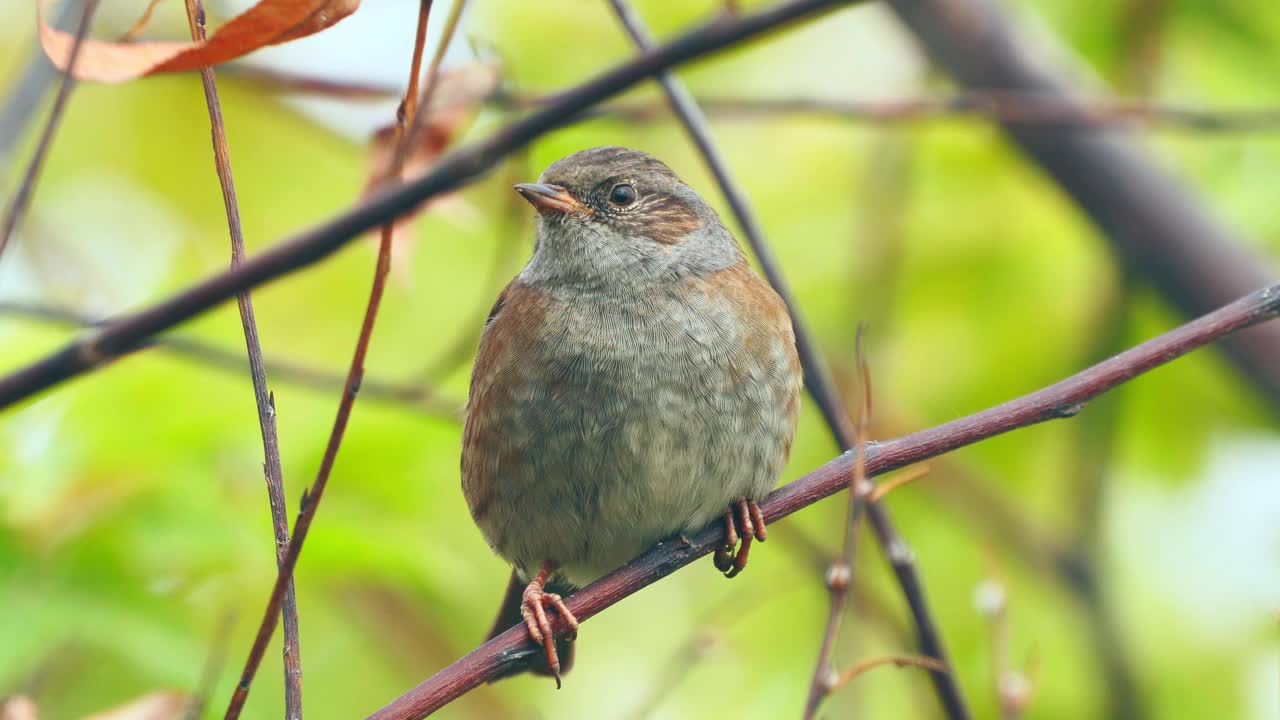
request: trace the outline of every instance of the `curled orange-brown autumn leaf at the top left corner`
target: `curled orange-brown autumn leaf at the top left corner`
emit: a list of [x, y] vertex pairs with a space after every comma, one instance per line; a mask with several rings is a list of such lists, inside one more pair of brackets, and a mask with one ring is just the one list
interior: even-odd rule
[[[40, 45], [50, 61], [65, 70], [76, 38], [45, 22], [49, 1], [36, 0]], [[360, 0], [261, 0], [227, 20], [204, 42], [86, 40], [76, 60], [74, 74], [77, 79], [124, 82], [156, 73], [216, 65], [266, 45], [320, 32], [358, 6]]]

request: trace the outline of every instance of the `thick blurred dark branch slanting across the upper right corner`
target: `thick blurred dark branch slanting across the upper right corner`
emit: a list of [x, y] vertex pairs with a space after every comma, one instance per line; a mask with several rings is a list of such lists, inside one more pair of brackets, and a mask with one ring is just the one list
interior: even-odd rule
[[[1068, 83], [1044, 72], [995, 0], [888, 0], [940, 65], [980, 92], [1038, 94], [1076, 105]], [[1275, 282], [1275, 268], [1245, 250], [1199, 201], [1124, 133], [1064, 132], [1004, 123], [1133, 268], [1187, 318]], [[1236, 366], [1280, 411], [1280, 327], [1229, 340]]]

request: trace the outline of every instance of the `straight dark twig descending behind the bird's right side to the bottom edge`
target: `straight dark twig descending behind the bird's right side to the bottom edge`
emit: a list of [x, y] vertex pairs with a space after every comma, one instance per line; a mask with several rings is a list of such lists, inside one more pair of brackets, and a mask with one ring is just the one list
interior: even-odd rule
[[[630, 4], [626, 0], [611, 1], [618, 19], [622, 20], [635, 45], [641, 51], [652, 50], [653, 40], [649, 36], [649, 31], [644, 27], [643, 20], [631, 9]], [[710, 129], [707, 126], [707, 117], [698, 106], [689, 88], [673, 73], [658, 73], [658, 82], [662, 83], [672, 110], [685, 126], [694, 145], [698, 146], [703, 160], [705, 160], [712, 174], [716, 177], [716, 182], [728, 201], [739, 225], [742, 228], [748, 243], [760, 261], [760, 268], [769, 279], [769, 284], [782, 297], [791, 314], [791, 324], [796, 337], [796, 351], [800, 355], [800, 365], [804, 368], [805, 386], [809, 388], [809, 395], [818, 404], [822, 416], [835, 436], [837, 445], [840, 445], [840, 448], [845, 451], [854, 448], [858, 443], [856, 430], [840, 401], [838, 393], [831, 383], [826, 364], [818, 351], [817, 343], [813, 341], [813, 334], [809, 332], [804, 316], [800, 314], [800, 306], [795, 301], [790, 283], [782, 274], [781, 265], [764, 237], [764, 231], [751, 205], [748, 202], [746, 193], [733, 181], [727, 163], [712, 140]], [[888, 511], [882, 505], [870, 505], [867, 512], [876, 530], [876, 538], [888, 556], [902, 594], [911, 609], [911, 618], [915, 621], [919, 634], [920, 648], [924, 655], [938, 659], [943, 665], [950, 665], [946, 648], [942, 644], [942, 635], [938, 633], [928, 609], [924, 587], [915, 570], [915, 560], [908, 550], [906, 541], [897, 533]], [[931, 678], [947, 717], [951, 720], [965, 720], [969, 717], [964, 694], [960, 692], [960, 685], [955, 682], [954, 675], [951, 673], [933, 673]]]

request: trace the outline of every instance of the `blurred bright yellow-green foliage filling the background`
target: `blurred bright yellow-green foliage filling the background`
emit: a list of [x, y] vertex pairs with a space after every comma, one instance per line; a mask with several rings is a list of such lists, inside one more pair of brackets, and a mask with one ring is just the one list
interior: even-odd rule
[[[1091, 82], [1101, 83], [1123, 77], [1132, 61], [1121, 20], [1135, 4], [1142, 1], [1100, 12], [1070, 0], [1021, 0], [1010, 10], [1038, 28], [1037, 37], [1044, 28], [1059, 33], [1098, 78]], [[413, 4], [398, 5], [408, 32]], [[667, 35], [716, 6], [640, 9]], [[3, 10], [13, 22], [0, 23], [0, 90], [28, 58], [24, 12]], [[465, 32], [495, 49], [508, 79], [527, 91], [570, 86], [631, 54], [604, 3], [477, 0]], [[1280, 15], [1267, 3], [1170, 0], [1155, 32], [1156, 97], [1226, 108], [1275, 102]], [[326, 68], [317, 55], [315, 73]], [[905, 97], [942, 87], [877, 8], [841, 12], [698, 61], [681, 76], [695, 92], [718, 96]], [[220, 87], [251, 252], [349, 206], [364, 182], [358, 138], [229, 73]], [[630, 97], [660, 101], [652, 86]], [[486, 110], [470, 136], [507, 119]], [[881, 128], [717, 118], [714, 129], [846, 384], [855, 328], [874, 319], [878, 434], [1053, 382], [1093, 359], [1091, 348], [1117, 315], [1126, 320], [1125, 343], [1180, 322], [1140, 273], [1124, 286], [1106, 240], [986, 122]], [[28, 131], [9, 168], [28, 155], [33, 136]], [[1280, 258], [1280, 135], [1153, 131], [1143, 142], [1261, 254]], [[675, 123], [596, 119], [547, 136], [527, 159], [465, 190], [471, 211], [429, 213], [417, 223], [416, 240], [397, 258], [370, 379], [421, 383], [422, 369], [451, 346], [474, 342], [492, 299], [530, 250], [527, 213], [513, 209], [509, 178], [536, 177], [557, 158], [603, 143], [659, 155], [728, 217]], [[896, 160], [886, 165], [886, 154]], [[221, 269], [225, 234], [196, 78], [84, 85], [20, 242], [0, 261], [0, 293], [109, 315]], [[374, 254], [372, 243], [357, 241], [256, 290], [269, 357], [342, 372]], [[233, 305], [175, 332], [243, 348]], [[67, 337], [61, 328], [0, 316], [0, 365], [17, 366]], [[466, 377], [457, 366], [433, 382], [461, 400]], [[319, 464], [338, 388], [279, 379], [273, 387], [296, 502]], [[1249, 506], [1280, 512], [1274, 409], [1215, 351], [1124, 386], [1116, 402], [1114, 452], [1098, 480], [1102, 505], [1087, 510], [1100, 534], [1080, 542], [1100, 559], [1102, 597], [1117, 614], [1139, 701], [1149, 717], [1277, 716], [1280, 656], [1268, 610], [1280, 606], [1280, 585], [1266, 569], [1276, 566], [1280, 538], [1274, 521], [1245, 528], [1239, 519], [1258, 515], [1245, 512]], [[1011, 661], [1036, 669], [1028, 717], [1100, 716], [1107, 684], [1091, 616], [1061, 578], [1000, 537], [980, 503], [937, 488], [955, 473], [977, 477], [1034, 532], [1071, 542], [1076, 496], [1094, 482], [1078, 474], [1078, 456], [1091, 450], [1080, 430], [1096, 421], [1087, 407], [1073, 420], [959, 451], [890, 496], [979, 717], [997, 712], [996, 653], [973, 594], [996, 574], [1009, 597]], [[456, 419], [412, 404], [357, 404], [297, 574], [308, 716], [372, 711], [488, 628], [507, 568], [462, 500], [460, 430]], [[806, 407], [786, 478], [833, 451]], [[8, 411], [0, 419], [0, 694], [31, 689], [42, 717], [56, 719], [159, 688], [193, 689], [229, 609], [238, 621], [210, 701], [210, 714], [220, 714], [275, 575], [260, 465], [247, 375], [157, 351]], [[1204, 493], [1220, 500], [1212, 512], [1187, 505]], [[732, 584], [699, 562], [593, 620], [563, 691], [518, 678], [483, 687], [439, 716], [626, 717], [649, 705], [653, 717], [797, 715], [826, 618], [822, 562], [836, 552], [841, 506], [826, 502], [786, 520]], [[1226, 543], [1233, 533], [1260, 542], [1240, 550]], [[1198, 552], [1176, 552], [1192, 541]], [[905, 621], [897, 588], [873, 543], [863, 547], [858, 583], [878, 601], [845, 623], [840, 666], [911, 648], [893, 629]], [[247, 716], [280, 714], [278, 646], [279, 634]], [[696, 661], [669, 685], [666, 673], [687, 657]], [[915, 670], [876, 670], [829, 698], [826, 711], [855, 707], [868, 716], [936, 714]]]

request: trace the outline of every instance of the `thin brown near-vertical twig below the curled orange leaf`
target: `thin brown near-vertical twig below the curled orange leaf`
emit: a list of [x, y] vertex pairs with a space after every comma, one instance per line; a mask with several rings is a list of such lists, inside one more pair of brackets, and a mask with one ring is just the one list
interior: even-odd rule
[[[200, 0], [186, 0], [187, 24], [191, 38], [196, 42], [206, 40], [205, 6]], [[152, 6], [147, 8], [147, 15]], [[205, 104], [209, 106], [209, 126], [214, 141], [214, 165], [218, 170], [218, 183], [223, 190], [223, 206], [227, 211], [227, 228], [232, 242], [232, 268], [244, 263], [244, 228], [241, 224], [239, 202], [236, 199], [236, 178], [232, 173], [230, 151], [227, 147], [227, 126], [223, 123], [223, 104], [218, 96], [218, 81], [214, 69], [200, 69], [200, 82], [205, 88]], [[250, 377], [253, 386], [253, 401], [257, 406], [257, 424], [262, 436], [262, 478], [266, 482], [266, 498], [271, 507], [276, 569], [284, 564], [284, 551], [289, 546], [289, 511], [284, 500], [284, 471], [280, 468], [280, 438], [275, 429], [275, 396], [266, 382], [266, 364], [262, 361], [262, 343], [257, 337], [257, 320], [253, 316], [253, 300], [250, 291], [236, 296], [239, 307], [241, 327], [244, 331], [244, 348], [248, 354]], [[284, 717], [302, 720], [302, 647], [298, 634], [298, 601], [289, 579], [284, 592], [284, 605], [280, 609], [284, 624]]]

